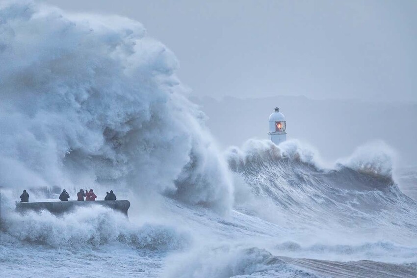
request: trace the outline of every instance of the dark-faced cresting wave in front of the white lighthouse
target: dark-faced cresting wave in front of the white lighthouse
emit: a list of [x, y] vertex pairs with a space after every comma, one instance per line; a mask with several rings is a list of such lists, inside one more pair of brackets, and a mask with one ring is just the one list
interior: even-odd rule
[[[256, 196], [236, 197], [242, 210], [306, 229], [317, 240], [340, 243], [360, 234], [417, 245], [417, 203], [392, 179], [393, 152], [385, 145], [362, 146], [333, 168], [323, 167], [316, 153], [296, 140], [279, 146], [249, 140], [241, 149], [230, 148], [226, 157], [240, 179], [235, 192], [246, 189]], [[262, 214], [265, 207], [268, 216]]]

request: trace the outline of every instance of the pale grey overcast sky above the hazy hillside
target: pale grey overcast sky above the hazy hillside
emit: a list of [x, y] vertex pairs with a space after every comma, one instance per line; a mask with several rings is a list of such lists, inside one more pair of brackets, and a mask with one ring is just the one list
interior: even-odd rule
[[194, 95], [417, 101], [417, 1], [45, 0], [143, 23]]

